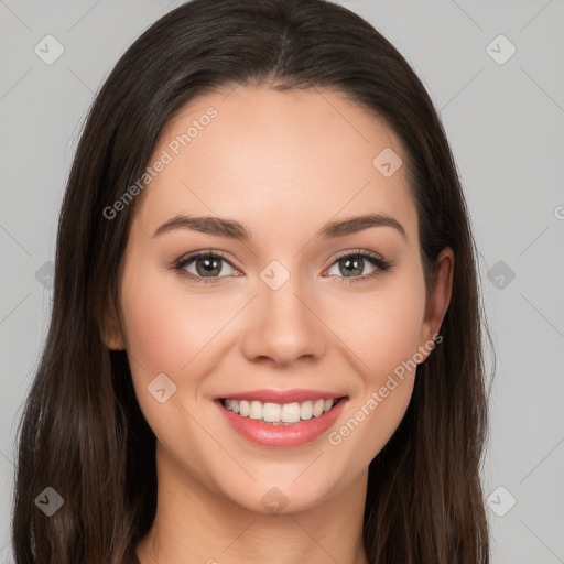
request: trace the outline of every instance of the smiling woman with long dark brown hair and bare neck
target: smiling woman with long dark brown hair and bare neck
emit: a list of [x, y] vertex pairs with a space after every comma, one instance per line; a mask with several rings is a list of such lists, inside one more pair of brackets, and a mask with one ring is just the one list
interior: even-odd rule
[[96, 97], [18, 562], [489, 562], [475, 248], [421, 82], [323, 0], [194, 0]]

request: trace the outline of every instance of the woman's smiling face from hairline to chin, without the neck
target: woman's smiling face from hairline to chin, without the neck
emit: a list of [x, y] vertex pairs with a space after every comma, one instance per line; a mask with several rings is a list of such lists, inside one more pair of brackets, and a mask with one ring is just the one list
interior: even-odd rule
[[166, 126], [106, 338], [127, 348], [160, 471], [261, 512], [366, 477], [448, 302], [448, 259], [425, 299], [398, 159], [388, 128], [317, 89], [239, 87]]

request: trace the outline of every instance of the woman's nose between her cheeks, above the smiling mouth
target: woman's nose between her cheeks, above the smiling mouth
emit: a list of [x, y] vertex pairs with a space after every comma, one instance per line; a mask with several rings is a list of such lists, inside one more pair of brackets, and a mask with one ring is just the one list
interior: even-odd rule
[[290, 366], [319, 359], [326, 348], [324, 324], [315, 301], [297, 284], [297, 276], [272, 290], [259, 289], [246, 316], [245, 357], [253, 362]]

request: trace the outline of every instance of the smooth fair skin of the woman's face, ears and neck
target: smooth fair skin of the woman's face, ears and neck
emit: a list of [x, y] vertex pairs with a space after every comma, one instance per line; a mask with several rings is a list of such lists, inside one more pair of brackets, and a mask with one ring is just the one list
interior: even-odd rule
[[[372, 164], [384, 148], [402, 159], [403, 149], [380, 120], [337, 93], [262, 85], [206, 95], [166, 124], [151, 162], [209, 107], [217, 117], [138, 196], [122, 262], [121, 323], [109, 307], [104, 330], [109, 348], [128, 351], [158, 440], [158, 511], [139, 558], [366, 564], [368, 465], [402, 420], [415, 371], [338, 445], [328, 432], [300, 447], [254, 445], [228, 425], [214, 399], [264, 388], [348, 395], [329, 430], [338, 431], [398, 366], [429, 349], [451, 300], [453, 252], [440, 254], [426, 295], [404, 166], [386, 177]], [[316, 236], [327, 221], [369, 213], [395, 219], [404, 235], [376, 226]], [[251, 237], [182, 227], [155, 236], [178, 215], [237, 220]], [[213, 274], [202, 259], [175, 270], [198, 250], [226, 260]], [[391, 265], [360, 259], [347, 269], [341, 254], [358, 251]], [[290, 274], [278, 290], [260, 276], [272, 261]], [[163, 403], [148, 391], [161, 373], [176, 386]], [[288, 501], [278, 514], [261, 502], [273, 487]]]

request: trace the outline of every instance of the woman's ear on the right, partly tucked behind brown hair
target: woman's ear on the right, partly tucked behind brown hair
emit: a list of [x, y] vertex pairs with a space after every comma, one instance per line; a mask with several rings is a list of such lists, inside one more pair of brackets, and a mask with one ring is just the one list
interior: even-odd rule
[[[432, 350], [432, 348], [429, 349], [429, 343], [435, 340], [435, 335], [438, 334], [441, 329], [441, 325], [443, 324], [443, 319], [451, 303], [453, 273], [454, 252], [449, 247], [446, 247], [438, 253], [435, 261], [432, 291], [431, 295], [427, 296], [425, 315], [421, 324], [421, 343], [419, 350], [423, 352], [422, 348], [425, 349], [425, 358]], [[427, 345], [425, 346], [425, 344]]]

